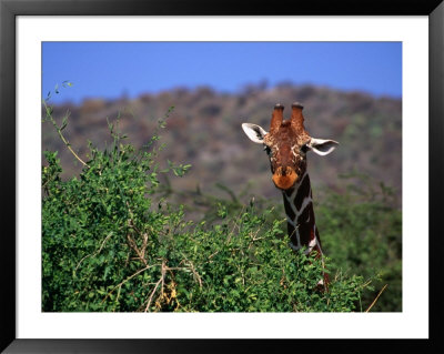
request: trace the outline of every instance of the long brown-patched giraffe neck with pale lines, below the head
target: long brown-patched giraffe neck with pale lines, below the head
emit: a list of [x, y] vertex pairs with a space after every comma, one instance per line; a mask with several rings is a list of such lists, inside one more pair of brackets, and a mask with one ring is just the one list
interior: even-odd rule
[[301, 182], [282, 192], [286, 213], [290, 246], [297, 251], [305, 246], [305, 253], [317, 252], [322, 256], [321, 239], [313, 212], [312, 188], [305, 172]]

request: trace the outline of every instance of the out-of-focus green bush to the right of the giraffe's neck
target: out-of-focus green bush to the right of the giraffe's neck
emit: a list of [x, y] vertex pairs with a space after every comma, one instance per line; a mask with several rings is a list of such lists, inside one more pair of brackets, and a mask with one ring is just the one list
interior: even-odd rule
[[373, 282], [375, 291], [364, 294], [363, 302], [370, 304], [384, 289], [373, 311], [400, 312], [402, 212], [395, 194], [366, 175], [351, 173], [343, 178], [349, 181], [346, 191], [321, 193], [322, 202], [315, 205], [331, 267], [364, 277], [379, 273]]

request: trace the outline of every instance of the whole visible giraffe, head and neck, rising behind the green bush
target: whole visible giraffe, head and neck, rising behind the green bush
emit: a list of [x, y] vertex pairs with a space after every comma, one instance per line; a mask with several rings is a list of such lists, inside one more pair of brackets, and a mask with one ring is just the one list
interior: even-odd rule
[[[316, 227], [313, 195], [306, 169], [306, 153], [313, 151], [319, 155], [326, 155], [337, 146], [334, 140], [314, 139], [304, 128], [303, 105], [292, 104], [290, 120], [283, 118], [284, 107], [274, 105], [271, 118], [270, 132], [256, 124], [243, 123], [245, 134], [255, 143], [263, 144], [269, 155], [272, 180], [282, 191], [289, 245], [299, 251], [305, 246], [305, 254], [316, 252], [322, 257], [322, 245]], [[320, 280], [319, 285], [327, 290], [329, 274]]]

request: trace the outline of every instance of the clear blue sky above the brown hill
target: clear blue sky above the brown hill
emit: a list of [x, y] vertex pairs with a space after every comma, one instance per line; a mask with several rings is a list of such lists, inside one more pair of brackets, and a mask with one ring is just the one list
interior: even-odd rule
[[135, 98], [176, 87], [239, 92], [266, 80], [402, 95], [401, 42], [43, 42], [42, 95], [52, 102]]

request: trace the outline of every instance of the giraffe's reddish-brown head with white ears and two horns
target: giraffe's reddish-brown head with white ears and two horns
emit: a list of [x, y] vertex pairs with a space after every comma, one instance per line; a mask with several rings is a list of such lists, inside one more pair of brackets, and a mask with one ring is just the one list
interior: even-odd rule
[[256, 124], [242, 124], [250, 140], [263, 144], [270, 158], [272, 180], [281, 190], [289, 190], [300, 182], [306, 171], [309, 151], [326, 155], [339, 144], [334, 140], [311, 138], [304, 128], [302, 109], [300, 103], [293, 103], [290, 120], [284, 120], [284, 107], [274, 105], [269, 132]]

